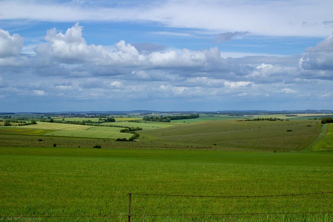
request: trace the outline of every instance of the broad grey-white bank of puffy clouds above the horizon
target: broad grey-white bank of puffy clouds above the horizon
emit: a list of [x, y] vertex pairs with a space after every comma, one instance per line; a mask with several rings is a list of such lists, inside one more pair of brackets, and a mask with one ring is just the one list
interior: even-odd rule
[[95, 110], [140, 109], [140, 104], [188, 110], [200, 103], [206, 104], [198, 106], [202, 110], [265, 109], [263, 104], [282, 110], [314, 109], [333, 99], [333, 35], [303, 55], [222, 58], [217, 47], [137, 50], [124, 40], [108, 50], [88, 44], [82, 33], [79, 23], [64, 33], [49, 29], [35, 55], [28, 55], [20, 53], [21, 36], [0, 29], [1, 100], [47, 97], [49, 107], [96, 103]]

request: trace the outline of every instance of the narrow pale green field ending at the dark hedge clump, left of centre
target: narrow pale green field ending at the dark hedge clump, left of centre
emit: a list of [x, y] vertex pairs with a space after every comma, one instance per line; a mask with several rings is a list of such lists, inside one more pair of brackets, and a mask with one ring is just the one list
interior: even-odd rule
[[[111, 128], [111, 127], [110, 127]], [[113, 128], [113, 127], [112, 127]], [[98, 130], [58, 130], [45, 133], [45, 136], [66, 136], [66, 137], [86, 137], [86, 138], [130, 138], [133, 134], [121, 133], [115, 131], [98, 131]]]

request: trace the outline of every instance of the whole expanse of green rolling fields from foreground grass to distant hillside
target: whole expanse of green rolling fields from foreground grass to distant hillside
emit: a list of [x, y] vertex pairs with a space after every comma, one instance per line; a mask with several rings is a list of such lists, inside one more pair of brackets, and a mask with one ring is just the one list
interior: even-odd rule
[[[332, 212], [333, 206], [333, 153], [315, 151], [333, 149], [333, 124], [322, 126], [318, 119], [246, 119], [216, 115], [100, 126], [54, 122], [1, 126], [0, 217], [127, 221], [130, 192], [189, 196], [329, 192], [261, 198], [134, 194], [132, 215], [198, 215], [132, 221], [332, 221], [333, 214], [325, 212]], [[133, 134], [107, 125], [143, 130], [137, 131], [137, 141], [120, 142], [114, 140]], [[102, 149], [94, 149], [96, 145]]]

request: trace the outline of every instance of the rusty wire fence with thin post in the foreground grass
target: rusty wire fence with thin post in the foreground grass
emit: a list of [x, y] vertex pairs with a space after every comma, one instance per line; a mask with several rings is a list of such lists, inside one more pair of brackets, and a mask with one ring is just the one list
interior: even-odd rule
[[[332, 211], [313, 211], [313, 212], [251, 212], [251, 213], [211, 213], [211, 214], [131, 214], [132, 210], [132, 196], [165, 196], [165, 197], [186, 197], [186, 198], [272, 198], [272, 197], [288, 197], [288, 196], [309, 196], [309, 195], [327, 195], [333, 194], [333, 192], [316, 192], [316, 193], [298, 193], [298, 194], [277, 194], [277, 195], [247, 195], [247, 196], [207, 196], [207, 195], [181, 195], [181, 194], [149, 194], [149, 193], [128, 193], [128, 214], [119, 215], [32, 215], [32, 216], [0, 216], [0, 221], [24, 221], [22, 219], [33, 218], [128, 218], [128, 222], [131, 222], [131, 218], [139, 217], [194, 217], [194, 216], [246, 216], [246, 215], [304, 215], [304, 214], [333, 214]], [[30, 220], [32, 221], [32, 220]]]

